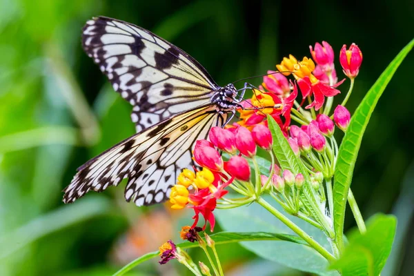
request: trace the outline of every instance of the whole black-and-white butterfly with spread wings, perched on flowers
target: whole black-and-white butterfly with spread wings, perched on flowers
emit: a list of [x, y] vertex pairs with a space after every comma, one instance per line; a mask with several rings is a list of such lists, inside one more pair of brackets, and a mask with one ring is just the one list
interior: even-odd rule
[[[78, 168], [63, 192], [71, 203], [128, 178], [126, 201], [137, 206], [168, 199], [197, 139], [224, 126], [243, 95], [218, 86], [190, 55], [130, 23], [97, 17], [83, 28], [83, 49], [113, 88], [133, 106], [137, 134]], [[244, 93], [244, 90], [242, 90]]]

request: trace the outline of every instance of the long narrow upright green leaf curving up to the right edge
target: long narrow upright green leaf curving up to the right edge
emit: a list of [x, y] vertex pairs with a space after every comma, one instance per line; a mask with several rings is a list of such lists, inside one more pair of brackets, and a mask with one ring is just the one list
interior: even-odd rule
[[400, 63], [404, 60], [408, 52], [414, 46], [414, 39], [405, 46], [401, 52], [391, 61], [388, 67], [382, 72], [380, 78], [375, 81], [371, 89], [366, 93], [366, 96], [359, 104], [357, 110], [351, 122], [348, 126], [348, 130], [342, 140], [342, 144], [339, 148], [338, 160], [335, 168], [334, 186], [333, 186], [333, 201], [334, 201], [334, 228], [337, 235], [337, 242], [342, 244], [344, 233], [344, 218], [346, 198], [348, 196], [348, 190], [351, 186], [351, 180], [353, 176], [353, 169], [355, 167], [355, 161], [359, 148], [361, 146], [362, 136], [364, 135], [368, 121], [371, 118], [371, 114], [378, 99], [380, 99], [382, 92], [384, 92], [388, 82], [391, 81], [395, 71]]

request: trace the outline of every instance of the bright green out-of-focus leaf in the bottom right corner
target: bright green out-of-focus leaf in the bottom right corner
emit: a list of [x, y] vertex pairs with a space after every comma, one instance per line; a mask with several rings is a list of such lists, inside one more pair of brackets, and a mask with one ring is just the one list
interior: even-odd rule
[[391, 253], [396, 225], [393, 215], [375, 215], [364, 235], [354, 230], [348, 236], [349, 245], [331, 268], [342, 270], [343, 276], [380, 275]]

